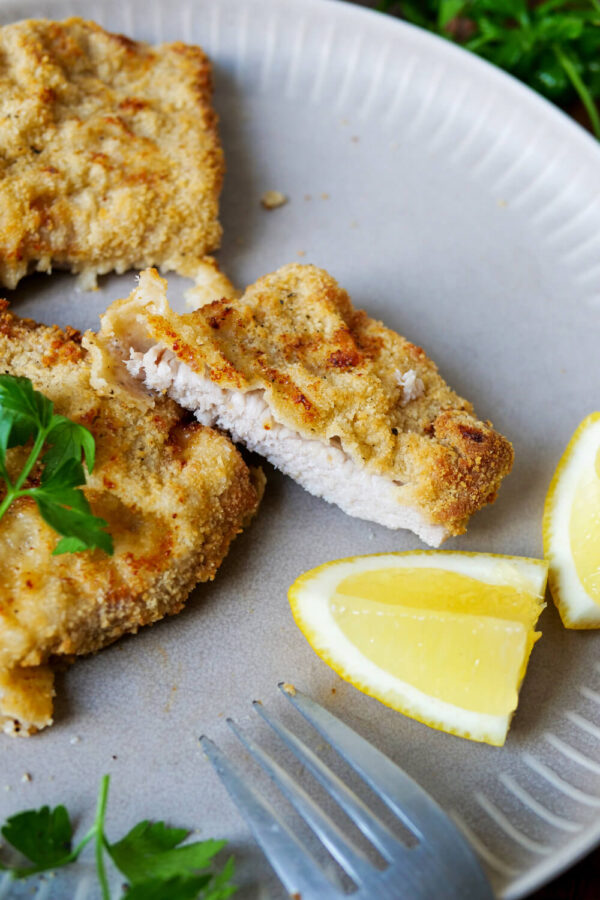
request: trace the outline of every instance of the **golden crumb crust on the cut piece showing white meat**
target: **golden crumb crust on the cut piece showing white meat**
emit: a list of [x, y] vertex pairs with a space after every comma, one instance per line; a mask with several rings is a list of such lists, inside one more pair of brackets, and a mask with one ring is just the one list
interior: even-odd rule
[[[240, 300], [183, 316], [169, 308], [156, 273], [144, 273], [132, 298], [110, 307], [102, 332], [126, 346], [137, 323], [136, 349], [160, 341], [221, 387], [264, 391], [277, 421], [307, 438], [337, 439], [451, 534], [494, 500], [511, 469], [511, 444], [475, 418], [425, 351], [355, 310], [322, 269], [284, 266]], [[421, 396], [407, 395], [406, 373], [421, 380]]]

